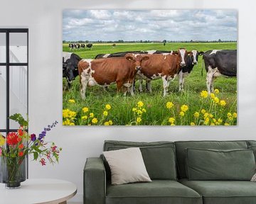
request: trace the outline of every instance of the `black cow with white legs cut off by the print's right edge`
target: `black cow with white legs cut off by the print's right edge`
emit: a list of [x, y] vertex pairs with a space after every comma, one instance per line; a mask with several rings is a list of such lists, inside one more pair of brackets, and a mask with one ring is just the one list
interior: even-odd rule
[[[237, 76], [237, 50], [208, 50], [203, 54], [206, 66], [206, 86], [208, 94], [213, 92], [213, 80], [224, 75]], [[203, 69], [203, 67], [202, 67]]]

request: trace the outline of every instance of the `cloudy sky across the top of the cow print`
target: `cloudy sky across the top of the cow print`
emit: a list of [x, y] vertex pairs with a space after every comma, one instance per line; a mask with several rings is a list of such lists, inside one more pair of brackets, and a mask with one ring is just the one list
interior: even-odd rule
[[235, 10], [65, 10], [63, 40], [237, 40]]

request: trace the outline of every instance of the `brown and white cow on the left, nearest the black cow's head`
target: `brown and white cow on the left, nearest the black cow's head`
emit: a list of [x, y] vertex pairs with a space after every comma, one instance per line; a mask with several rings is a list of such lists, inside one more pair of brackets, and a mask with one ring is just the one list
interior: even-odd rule
[[145, 55], [129, 53], [124, 57], [80, 60], [78, 71], [80, 75], [81, 97], [85, 98], [87, 84], [89, 86], [117, 84], [117, 92], [124, 86], [127, 87], [131, 95], [134, 95], [131, 89], [134, 77], [137, 71], [141, 69], [141, 63], [148, 59], [149, 57]]

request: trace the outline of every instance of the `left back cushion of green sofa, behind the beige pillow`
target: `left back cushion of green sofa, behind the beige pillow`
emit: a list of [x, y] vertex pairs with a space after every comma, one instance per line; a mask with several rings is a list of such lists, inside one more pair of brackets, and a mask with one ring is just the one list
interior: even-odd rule
[[[107, 140], [104, 151], [139, 147], [151, 179], [177, 179], [174, 142], [124, 142]], [[108, 166], [106, 165], [106, 169]]]

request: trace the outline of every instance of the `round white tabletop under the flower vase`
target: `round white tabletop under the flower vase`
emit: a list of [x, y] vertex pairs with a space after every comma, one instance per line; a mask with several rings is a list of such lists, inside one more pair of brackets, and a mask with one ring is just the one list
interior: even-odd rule
[[6, 189], [0, 184], [1, 204], [57, 204], [66, 203], [77, 193], [74, 183], [57, 179], [27, 179], [21, 188]]

